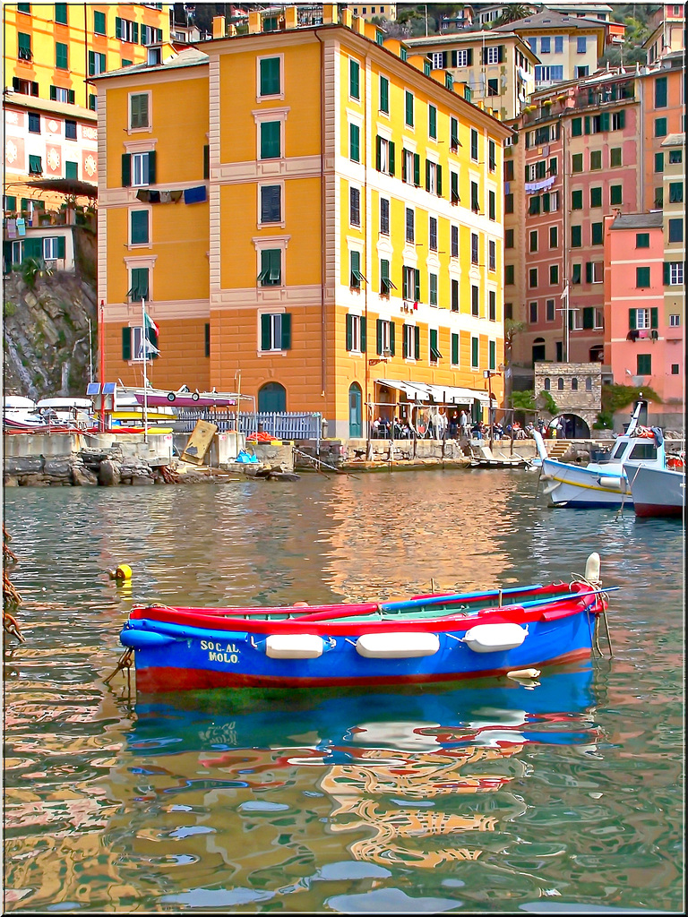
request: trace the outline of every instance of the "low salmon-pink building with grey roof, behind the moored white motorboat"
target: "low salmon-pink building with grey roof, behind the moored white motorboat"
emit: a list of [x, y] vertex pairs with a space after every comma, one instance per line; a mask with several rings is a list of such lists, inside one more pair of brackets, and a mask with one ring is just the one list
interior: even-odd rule
[[604, 362], [616, 384], [657, 392], [663, 423], [675, 426], [671, 414], [682, 417], [683, 376], [664, 309], [662, 220], [661, 211], [605, 217]]

